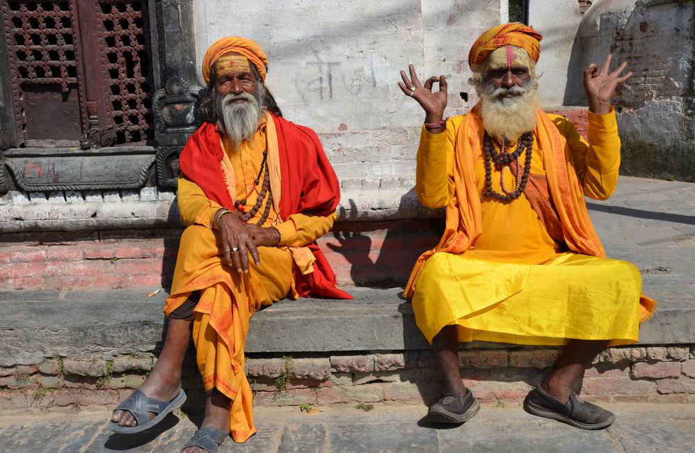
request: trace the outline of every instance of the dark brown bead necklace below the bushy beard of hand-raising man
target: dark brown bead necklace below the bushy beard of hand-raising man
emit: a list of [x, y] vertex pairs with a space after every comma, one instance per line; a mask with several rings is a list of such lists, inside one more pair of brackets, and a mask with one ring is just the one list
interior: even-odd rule
[[[529, 180], [529, 175], [531, 174], [531, 156], [532, 148], [534, 146], [534, 136], [532, 132], [527, 132], [520, 136], [518, 143], [516, 144], [516, 150], [514, 152], [507, 152], [507, 147], [509, 142], [504, 139], [498, 153], [495, 150], [495, 145], [493, 145], [493, 140], [490, 138], [488, 133], [485, 133], [483, 149], [484, 149], [484, 163], [485, 163], [485, 192], [484, 196], [497, 198], [498, 200], [516, 200], [521, 196], [521, 193], [526, 188], [526, 183]], [[521, 170], [519, 163], [519, 157], [521, 153], [526, 150], [526, 159], [524, 161], [524, 169]], [[500, 172], [500, 186], [502, 186], [502, 192], [498, 193], [493, 190], [493, 161], [495, 161], [495, 170]], [[504, 166], [509, 166], [511, 162], [516, 164], [516, 187], [513, 191], [506, 189], [504, 184]]]

